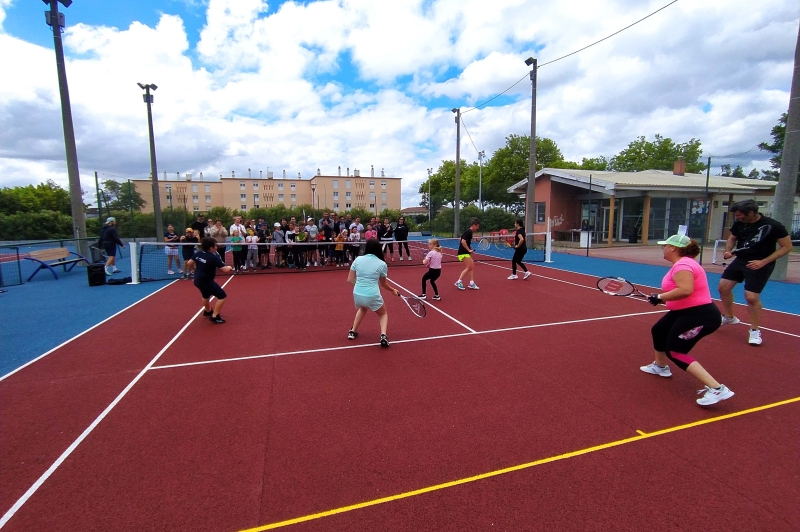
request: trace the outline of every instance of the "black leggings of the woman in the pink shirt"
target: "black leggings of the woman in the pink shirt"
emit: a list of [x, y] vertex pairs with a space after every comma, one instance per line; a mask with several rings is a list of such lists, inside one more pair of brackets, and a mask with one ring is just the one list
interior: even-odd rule
[[722, 325], [722, 315], [714, 303], [664, 314], [650, 330], [653, 348], [667, 354], [667, 358], [686, 371], [694, 358], [687, 353], [700, 341]]

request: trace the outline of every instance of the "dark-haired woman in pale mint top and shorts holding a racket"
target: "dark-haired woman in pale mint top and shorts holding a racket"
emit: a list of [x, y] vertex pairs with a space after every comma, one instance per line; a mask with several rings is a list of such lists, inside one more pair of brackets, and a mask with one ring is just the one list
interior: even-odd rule
[[388, 290], [396, 296], [400, 295], [397, 289], [389, 286], [386, 276], [389, 268], [383, 258], [381, 243], [376, 238], [370, 238], [364, 248], [364, 254], [356, 257], [350, 265], [347, 282], [353, 286], [353, 301], [356, 306], [356, 317], [353, 326], [347, 333], [348, 340], [355, 340], [358, 336], [358, 326], [368, 310], [378, 315], [381, 327], [381, 347], [389, 347], [386, 331], [389, 328], [389, 313], [381, 297], [381, 288]]

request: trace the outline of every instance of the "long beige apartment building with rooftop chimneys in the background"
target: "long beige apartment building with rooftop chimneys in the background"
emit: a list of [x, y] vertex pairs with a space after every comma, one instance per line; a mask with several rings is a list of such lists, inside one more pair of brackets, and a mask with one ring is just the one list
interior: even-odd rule
[[[347, 172], [350, 173], [349, 170]], [[371, 174], [374, 172], [370, 172]], [[383, 174], [383, 172], [381, 172]], [[148, 179], [132, 181], [146, 202], [143, 212], [153, 212], [152, 185]], [[185, 207], [190, 212], [207, 212], [213, 207], [250, 210], [267, 209], [283, 204], [288, 208], [313, 205], [337, 212], [365, 209], [376, 214], [401, 207], [402, 179], [399, 177], [324, 176], [310, 179], [269, 177], [223, 177], [199, 179], [192, 174], [159, 179], [161, 208]]]

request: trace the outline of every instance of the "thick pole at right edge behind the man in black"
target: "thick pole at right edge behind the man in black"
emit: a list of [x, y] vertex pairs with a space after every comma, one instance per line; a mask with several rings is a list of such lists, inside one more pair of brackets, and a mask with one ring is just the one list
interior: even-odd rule
[[[789, 90], [787, 115], [781, 173], [778, 178], [778, 186], [775, 187], [775, 208], [772, 215], [791, 233], [794, 192], [797, 190], [797, 172], [800, 170], [800, 28], [798, 28], [797, 44], [794, 48], [794, 74], [792, 74], [792, 88]], [[788, 267], [789, 256], [785, 255], [775, 263], [772, 278], [776, 281], [785, 281]]]

